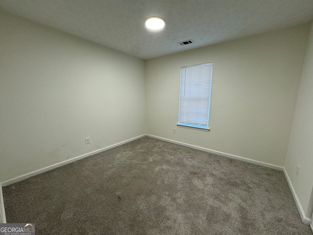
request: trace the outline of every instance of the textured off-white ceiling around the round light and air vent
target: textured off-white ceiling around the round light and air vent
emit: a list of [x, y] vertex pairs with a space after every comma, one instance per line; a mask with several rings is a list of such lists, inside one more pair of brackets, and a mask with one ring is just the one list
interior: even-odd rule
[[[313, 21], [313, 0], [0, 0], [0, 9], [141, 59]], [[151, 16], [163, 31], [145, 28]]]

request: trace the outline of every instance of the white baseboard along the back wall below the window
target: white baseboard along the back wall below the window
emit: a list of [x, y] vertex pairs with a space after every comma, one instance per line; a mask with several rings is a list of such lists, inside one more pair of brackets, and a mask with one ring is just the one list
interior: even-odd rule
[[269, 167], [269, 168], [272, 168], [272, 169], [276, 169], [276, 170], [281, 170], [281, 171], [284, 170], [284, 167], [280, 166], [280, 165], [264, 163], [264, 162], [260, 162], [260, 161], [257, 161], [257, 160], [252, 160], [252, 159], [240, 157], [240, 156], [229, 154], [229, 153], [215, 151], [215, 150], [212, 150], [212, 149], [203, 148], [203, 147], [192, 145], [192, 144], [189, 144], [189, 143], [173, 141], [173, 140], [165, 139], [165, 138], [158, 137], [158, 136], [153, 136], [153, 135], [148, 135], [148, 134], [146, 136], [152, 137], [152, 138], [155, 138], [155, 139], [159, 139], [159, 140], [162, 140], [162, 141], [168, 141], [168, 142], [171, 142], [171, 143], [177, 143], [179, 145], [183, 145], [183, 146], [190, 147], [190, 148], [195, 148], [195, 149], [202, 150], [202, 151], [205, 151], [205, 152], [214, 153], [214, 154], [221, 155], [221, 156], [224, 156], [224, 157], [227, 157], [227, 158], [237, 159], [237, 160], [244, 161], [244, 162], [247, 162], [247, 163], [262, 165], [262, 166], [266, 166], [266, 167]]

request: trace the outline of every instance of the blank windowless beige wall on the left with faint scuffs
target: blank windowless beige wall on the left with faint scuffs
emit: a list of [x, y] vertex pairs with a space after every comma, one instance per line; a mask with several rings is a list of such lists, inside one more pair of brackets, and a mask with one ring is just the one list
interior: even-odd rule
[[0, 182], [145, 134], [144, 66], [0, 12]]

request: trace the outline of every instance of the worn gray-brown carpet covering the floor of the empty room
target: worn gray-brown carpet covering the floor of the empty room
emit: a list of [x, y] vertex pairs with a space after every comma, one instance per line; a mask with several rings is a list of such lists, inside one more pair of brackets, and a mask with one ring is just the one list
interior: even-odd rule
[[282, 171], [144, 137], [3, 187], [36, 235], [312, 235]]

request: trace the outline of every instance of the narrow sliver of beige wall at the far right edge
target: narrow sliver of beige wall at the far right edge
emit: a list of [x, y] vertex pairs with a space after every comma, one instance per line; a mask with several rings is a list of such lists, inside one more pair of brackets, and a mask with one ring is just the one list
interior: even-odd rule
[[[300, 166], [296, 175], [296, 167]], [[310, 27], [286, 158], [286, 171], [307, 217], [313, 212], [313, 24]]]

